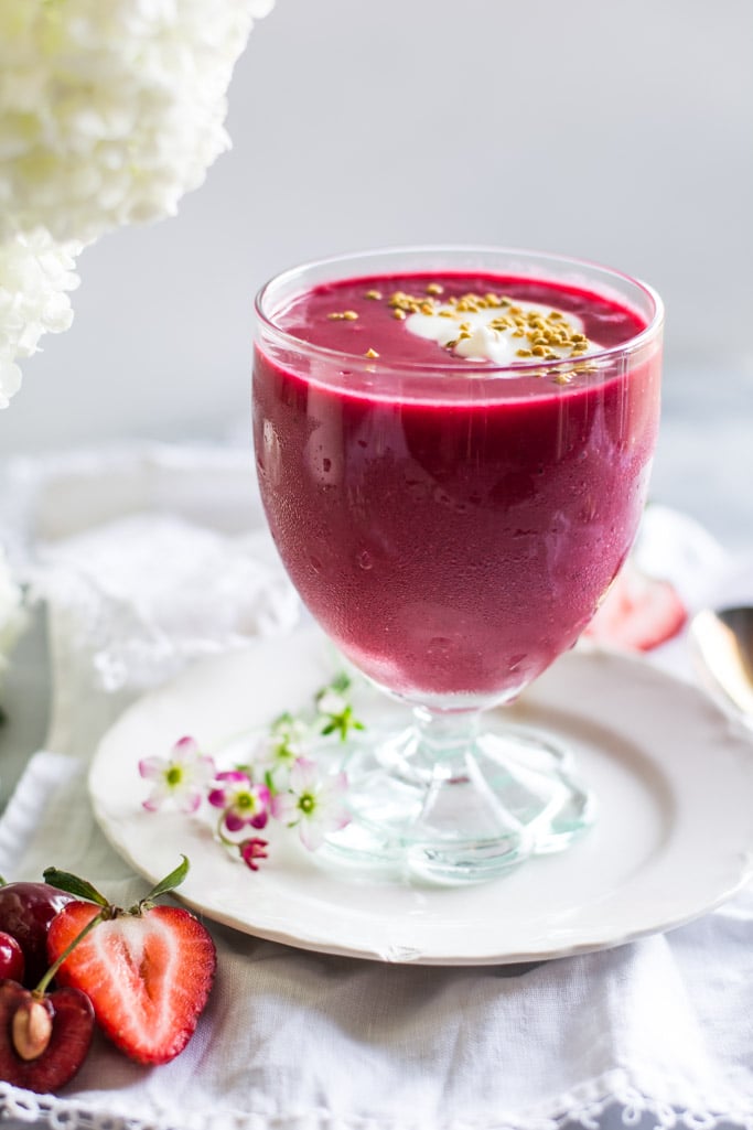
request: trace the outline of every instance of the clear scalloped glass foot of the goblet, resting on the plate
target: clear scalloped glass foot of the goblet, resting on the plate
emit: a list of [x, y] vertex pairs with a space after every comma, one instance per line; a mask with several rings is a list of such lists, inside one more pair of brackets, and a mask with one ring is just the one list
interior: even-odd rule
[[445, 742], [440, 756], [427, 747], [425, 725], [374, 739], [349, 742], [352, 822], [326, 844], [340, 861], [478, 883], [562, 851], [594, 823], [594, 796], [548, 734], [485, 730], [455, 748]]

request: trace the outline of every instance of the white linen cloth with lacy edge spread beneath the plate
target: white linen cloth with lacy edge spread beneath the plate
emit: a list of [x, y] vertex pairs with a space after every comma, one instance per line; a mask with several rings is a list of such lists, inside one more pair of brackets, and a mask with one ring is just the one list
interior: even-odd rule
[[[249, 464], [245, 453], [147, 449], [11, 468], [5, 497], [24, 505], [6, 513], [7, 537], [49, 601], [54, 707], [51, 751], [31, 759], [0, 820], [6, 876], [38, 879], [55, 863], [115, 902], [144, 893], [94, 824], [87, 760], [146, 685], [295, 617], [258, 529]], [[670, 513], [649, 522], [641, 551], [658, 553], [699, 603], [720, 550]], [[753, 571], [737, 576], [753, 582]], [[656, 658], [682, 668], [682, 641]], [[670, 933], [527, 967], [386, 965], [208, 925], [217, 982], [176, 1060], [139, 1067], [97, 1037], [55, 1097], [0, 1084], [2, 1119], [71, 1130], [595, 1130], [613, 1110], [625, 1124], [753, 1128], [751, 889]]]

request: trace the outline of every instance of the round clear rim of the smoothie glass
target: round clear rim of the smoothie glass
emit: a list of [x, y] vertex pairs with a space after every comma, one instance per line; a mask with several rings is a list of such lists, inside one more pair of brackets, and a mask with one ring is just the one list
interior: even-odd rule
[[[493, 244], [406, 244], [406, 245], [395, 245], [388, 247], [374, 247], [366, 249], [363, 251], [344, 252], [343, 254], [329, 255], [322, 259], [312, 259], [303, 263], [298, 263], [295, 267], [286, 268], [285, 270], [278, 271], [272, 275], [267, 281], [258, 289], [254, 298], [254, 311], [257, 318], [259, 319], [261, 325], [270, 331], [278, 342], [284, 344], [291, 350], [300, 354], [305, 354], [309, 357], [318, 357], [321, 360], [326, 360], [329, 364], [334, 363], [346, 363], [350, 368], [354, 366], [369, 368], [373, 372], [376, 368], [379, 372], [390, 372], [390, 373], [410, 373], [413, 375], [418, 375], [421, 373], [436, 374], [438, 372], [453, 373], [461, 376], [464, 373], [473, 373], [476, 379], [490, 379], [495, 374], [514, 373], [516, 375], [525, 376], [527, 373], [542, 371], [556, 373], [561, 370], [569, 370], [573, 367], [572, 357], [560, 357], [554, 359], [544, 359], [542, 357], [533, 357], [530, 359], [521, 359], [514, 363], [495, 364], [495, 363], [484, 363], [483, 366], [479, 365], [477, 360], [462, 360], [460, 358], [455, 358], [453, 360], [444, 360], [443, 358], [436, 362], [415, 362], [415, 360], [384, 360], [376, 362], [365, 358], [361, 354], [348, 353], [341, 349], [330, 349], [327, 346], [318, 346], [311, 341], [306, 341], [304, 338], [296, 337], [294, 333], [289, 333], [287, 330], [282, 329], [274, 321], [274, 314], [267, 313], [263, 308], [265, 299], [268, 298], [269, 293], [272, 287], [284, 285], [288, 281], [294, 281], [296, 278], [303, 277], [314, 270], [321, 270], [327, 268], [336, 268], [341, 266], [344, 273], [338, 276], [338, 280], [347, 281], [348, 278], [356, 279], [357, 275], [345, 273], [348, 264], [353, 266], [358, 261], [364, 261], [367, 259], [389, 259], [397, 255], [500, 255], [500, 257], [520, 257], [521, 259], [528, 259], [529, 261], [543, 261], [546, 260], [552, 264], [560, 264], [562, 267], [571, 268], [582, 268], [586, 271], [598, 271], [604, 276], [612, 277], [615, 282], [628, 284], [635, 288], [640, 294], [648, 298], [652, 307], [652, 315], [648, 324], [640, 330], [639, 333], [633, 334], [633, 337], [628, 338], [625, 341], [621, 341], [618, 345], [608, 346], [605, 349], [594, 350], [592, 353], [585, 354], [582, 357], [578, 358], [579, 362], [587, 363], [606, 363], [611, 358], [621, 357], [639, 351], [643, 346], [651, 342], [658, 333], [660, 332], [664, 324], [664, 303], [652, 286], [644, 282], [642, 279], [638, 279], [632, 275], [628, 275], [625, 271], [616, 270], [614, 267], [606, 267], [604, 263], [599, 263], [588, 259], [580, 259], [574, 255], [559, 254], [554, 252], [546, 251], [534, 251], [533, 249], [526, 247], [507, 247], [497, 246]], [[434, 270], [441, 270], [441, 267], [433, 268]], [[490, 273], [493, 273], [493, 268], [488, 268]], [[531, 276], [533, 277], [533, 276]], [[335, 277], [332, 281], [335, 281]], [[539, 281], [546, 282], [546, 278], [539, 279]], [[557, 280], [551, 280], [553, 285], [556, 285]], [[317, 285], [317, 284], [312, 284]], [[305, 293], [305, 287], [302, 287], [297, 294]], [[598, 290], [594, 290], [599, 297], [607, 297], [606, 295], [599, 295]], [[292, 294], [295, 294], [292, 293]], [[632, 306], [628, 306], [633, 313], [638, 313]]]

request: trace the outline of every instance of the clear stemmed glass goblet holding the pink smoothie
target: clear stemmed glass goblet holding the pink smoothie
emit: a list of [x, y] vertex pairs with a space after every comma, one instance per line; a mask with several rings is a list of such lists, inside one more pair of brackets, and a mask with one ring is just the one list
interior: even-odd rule
[[[634, 328], [577, 362], [497, 364], [439, 346], [435, 362], [382, 360], [366, 338], [340, 350], [288, 324], [292, 304], [329, 284], [474, 273], [500, 293], [528, 280], [599, 296]], [[577, 260], [430, 247], [287, 271], [257, 313], [272, 537], [315, 620], [401, 704], [387, 732], [348, 742], [353, 820], [331, 852], [466, 883], [565, 847], [595, 798], [556, 734], [492, 707], [575, 643], [630, 549], [658, 427], [658, 296]]]

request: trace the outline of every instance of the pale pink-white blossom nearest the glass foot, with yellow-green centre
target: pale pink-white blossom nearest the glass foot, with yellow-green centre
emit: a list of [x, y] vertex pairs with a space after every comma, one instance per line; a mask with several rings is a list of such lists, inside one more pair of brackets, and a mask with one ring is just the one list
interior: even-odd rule
[[288, 827], [297, 825], [304, 847], [315, 851], [330, 832], [339, 832], [350, 820], [347, 786], [345, 773], [320, 774], [315, 762], [300, 757], [291, 770], [287, 792], [271, 799], [272, 816]]

